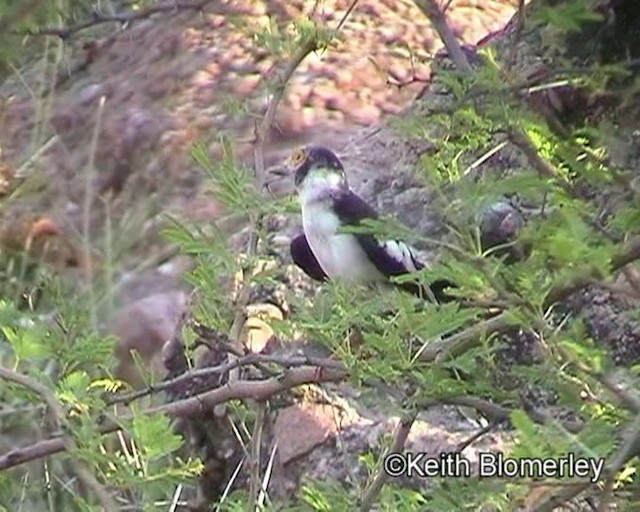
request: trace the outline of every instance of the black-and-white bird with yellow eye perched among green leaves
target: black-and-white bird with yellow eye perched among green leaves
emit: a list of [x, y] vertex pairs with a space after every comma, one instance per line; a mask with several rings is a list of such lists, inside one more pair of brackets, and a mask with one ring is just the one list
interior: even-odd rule
[[344, 232], [378, 212], [349, 186], [344, 165], [329, 148], [316, 145], [292, 153], [277, 174], [293, 174], [302, 213], [303, 233], [290, 243], [291, 258], [315, 281], [354, 284], [391, 283], [421, 298], [453, 300], [437, 280], [429, 287], [415, 281], [394, 282], [393, 277], [417, 272], [425, 265], [415, 249], [401, 240], [380, 240], [369, 233]]

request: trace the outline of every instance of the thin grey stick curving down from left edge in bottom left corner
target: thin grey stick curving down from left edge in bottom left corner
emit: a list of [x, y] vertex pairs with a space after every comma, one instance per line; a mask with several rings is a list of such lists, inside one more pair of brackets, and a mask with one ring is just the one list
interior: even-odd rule
[[[49, 408], [49, 415], [51, 417], [52, 425], [56, 429], [63, 428], [60, 424], [64, 419], [64, 410], [46, 386], [34, 381], [26, 375], [8, 370], [7, 368], [1, 366], [0, 378], [14, 382], [39, 395]], [[71, 467], [76, 473], [76, 476], [86, 487], [88, 487], [95, 493], [98, 501], [100, 501], [102, 509], [108, 512], [116, 512], [118, 510], [118, 507], [111, 499], [111, 496], [109, 496], [107, 490], [102, 486], [100, 482], [98, 482], [93, 473], [91, 473], [91, 471], [89, 471], [89, 469], [85, 467], [82, 461], [75, 457], [73, 452], [77, 450], [77, 446], [73, 438], [71, 436], [63, 435], [62, 437], [58, 438], [57, 441], [61, 444], [61, 449], [69, 452]]]

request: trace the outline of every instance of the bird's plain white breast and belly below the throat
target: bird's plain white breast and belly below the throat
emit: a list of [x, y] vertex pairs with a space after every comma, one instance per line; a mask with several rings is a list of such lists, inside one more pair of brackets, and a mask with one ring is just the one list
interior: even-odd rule
[[309, 247], [330, 278], [351, 282], [384, 279], [356, 237], [350, 233], [338, 233], [340, 220], [327, 202], [303, 204], [302, 224]]

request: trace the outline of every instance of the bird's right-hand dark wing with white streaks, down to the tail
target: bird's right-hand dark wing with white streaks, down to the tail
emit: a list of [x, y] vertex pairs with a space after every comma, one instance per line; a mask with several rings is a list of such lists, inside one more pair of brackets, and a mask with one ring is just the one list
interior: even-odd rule
[[[378, 213], [352, 191], [336, 194], [333, 198], [333, 207], [340, 221], [348, 226], [357, 226], [365, 219], [378, 218]], [[400, 276], [424, 268], [413, 250], [400, 240], [383, 242], [366, 233], [354, 233], [354, 235], [358, 238], [358, 242], [371, 263], [386, 277]], [[397, 285], [419, 297], [429, 297], [433, 294], [438, 301], [451, 300], [451, 297], [444, 292], [446, 288], [453, 286], [448, 281], [440, 280], [432, 283], [430, 286], [431, 294], [419, 283], [405, 282]]]

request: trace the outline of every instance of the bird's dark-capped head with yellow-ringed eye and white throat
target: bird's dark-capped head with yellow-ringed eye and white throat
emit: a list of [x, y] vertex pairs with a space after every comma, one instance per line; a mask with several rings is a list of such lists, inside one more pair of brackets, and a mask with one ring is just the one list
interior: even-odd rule
[[296, 150], [285, 163], [296, 190], [308, 199], [321, 199], [332, 190], [347, 188], [344, 167], [336, 154], [322, 146]]

